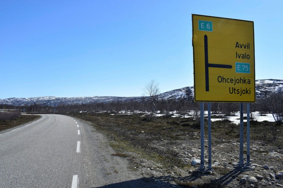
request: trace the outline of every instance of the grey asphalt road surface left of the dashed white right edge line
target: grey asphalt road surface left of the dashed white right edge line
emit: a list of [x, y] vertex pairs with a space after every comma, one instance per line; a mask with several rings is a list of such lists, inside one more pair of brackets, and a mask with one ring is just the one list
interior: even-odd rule
[[42, 115], [0, 133], [0, 187], [72, 187], [73, 176], [83, 176], [78, 126], [68, 116]]

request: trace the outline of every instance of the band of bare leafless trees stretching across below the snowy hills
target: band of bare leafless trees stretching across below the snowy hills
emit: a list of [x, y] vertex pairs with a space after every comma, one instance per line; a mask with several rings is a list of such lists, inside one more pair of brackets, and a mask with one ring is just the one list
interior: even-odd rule
[[[199, 117], [199, 103], [195, 102], [190, 89], [186, 91], [184, 97], [175, 98], [174, 96], [167, 98], [158, 98], [159, 88], [154, 81], [146, 85], [144, 88], [146, 95], [140, 100], [116, 101], [116, 102], [97, 102], [88, 104], [60, 104], [58, 106], [32, 104], [23, 106], [3, 105], [7, 109], [18, 109], [20, 112], [28, 112], [31, 114], [47, 113], [66, 114], [66, 113], [97, 113], [111, 112], [118, 113], [121, 111], [130, 112], [139, 115], [139, 113], [148, 112], [150, 120], [156, 113], [185, 115], [193, 112], [195, 118]], [[263, 96], [251, 103], [251, 112], [259, 111], [262, 116], [273, 114], [276, 122], [283, 120], [283, 87], [279, 87], [275, 91], [260, 91]], [[244, 108], [245, 109], [245, 108]], [[206, 105], [205, 105], [205, 109]], [[211, 111], [213, 114], [223, 114], [223, 116], [234, 116], [239, 111], [239, 103], [211, 103]], [[253, 115], [251, 114], [251, 118]]]

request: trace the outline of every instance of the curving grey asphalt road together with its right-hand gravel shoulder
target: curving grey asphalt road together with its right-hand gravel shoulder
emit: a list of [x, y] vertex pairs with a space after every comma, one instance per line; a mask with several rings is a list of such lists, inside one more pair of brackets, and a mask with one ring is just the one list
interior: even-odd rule
[[[154, 187], [105, 137], [75, 118], [42, 118], [0, 132], [0, 187]], [[156, 187], [156, 186], [155, 186]]]

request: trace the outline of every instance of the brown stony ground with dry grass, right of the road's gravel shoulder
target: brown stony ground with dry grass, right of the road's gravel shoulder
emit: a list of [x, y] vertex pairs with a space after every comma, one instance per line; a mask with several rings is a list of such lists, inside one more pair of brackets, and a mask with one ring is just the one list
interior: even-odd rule
[[[191, 159], [200, 156], [200, 125], [193, 118], [158, 117], [148, 121], [147, 117], [108, 113], [81, 113], [73, 116], [90, 122], [106, 134], [111, 147], [116, 151], [113, 155], [128, 158], [132, 164], [129, 168], [139, 170], [151, 179], [165, 178], [171, 182], [170, 185], [173, 182], [183, 187], [249, 187], [251, 185], [248, 182], [239, 183], [243, 175], [256, 177], [259, 174], [266, 178], [270, 176], [268, 173], [276, 174], [283, 170], [282, 125], [274, 122], [252, 121], [250, 125], [251, 162], [260, 166], [273, 166], [274, 172], [260, 166], [248, 172], [235, 170], [233, 165], [239, 159], [239, 126], [217, 121], [212, 122], [212, 161], [215, 171], [202, 176], [196, 170], [198, 166], [191, 166]], [[205, 155], [207, 159], [207, 152]], [[282, 180], [273, 179], [271, 185], [276, 183], [282, 183]], [[255, 183], [254, 187], [271, 185], [264, 179]]]

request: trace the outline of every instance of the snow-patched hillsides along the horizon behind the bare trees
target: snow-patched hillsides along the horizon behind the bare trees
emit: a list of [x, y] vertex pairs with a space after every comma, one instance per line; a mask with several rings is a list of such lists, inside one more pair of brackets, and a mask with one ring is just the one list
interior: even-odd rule
[[[283, 79], [275, 80], [256, 80], [256, 97], [262, 96], [260, 91], [275, 91], [278, 87], [283, 87]], [[186, 98], [188, 94], [193, 94], [193, 87], [183, 87], [180, 89], [175, 89], [161, 93], [158, 95], [159, 99], [179, 99]], [[33, 103], [38, 103], [42, 105], [53, 105], [57, 106], [59, 104], [82, 104], [82, 103], [92, 103], [92, 102], [117, 102], [117, 101], [131, 101], [131, 100], [141, 100], [141, 97], [111, 97], [111, 96], [94, 96], [94, 97], [33, 97], [33, 98], [8, 98], [0, 99], [0, 103], [10, 104], [10, 105], [31, 105]]]

